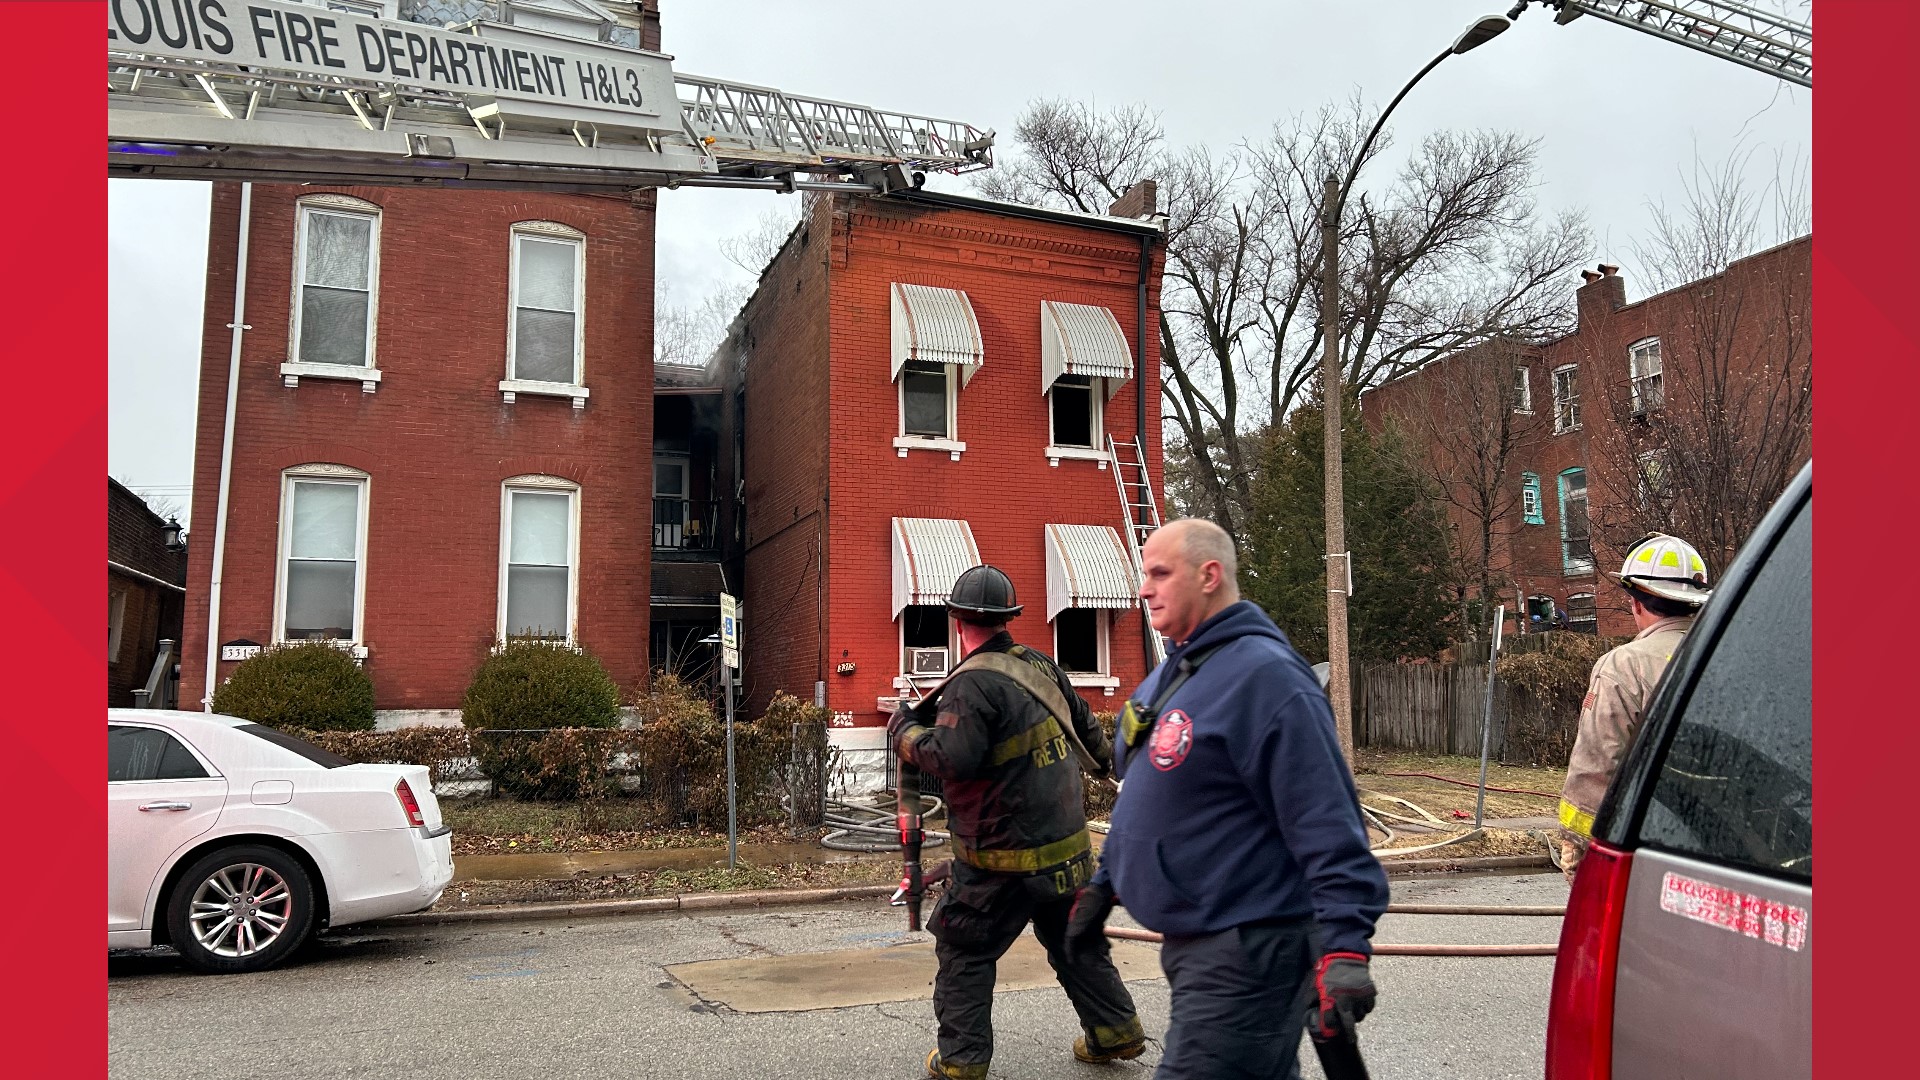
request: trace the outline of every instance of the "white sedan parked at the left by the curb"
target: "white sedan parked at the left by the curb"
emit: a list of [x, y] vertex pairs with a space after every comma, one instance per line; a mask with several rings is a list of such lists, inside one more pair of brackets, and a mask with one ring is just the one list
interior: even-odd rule
[[108, 949], [273, 967], [321, 928], [432, 907], [451, 834], [424, 765], [351, 765], [234, 717], [108, 709]]

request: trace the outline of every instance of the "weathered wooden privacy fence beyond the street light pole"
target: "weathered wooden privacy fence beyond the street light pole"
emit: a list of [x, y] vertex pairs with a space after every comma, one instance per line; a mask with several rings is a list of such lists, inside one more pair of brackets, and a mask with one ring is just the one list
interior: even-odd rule
[[[1486, 663], [1377, 663], [1354, 686], [1354, 742], [1382, 749], [1480, 755]], [[1488, 753], [1507, 765], [1565, 765], [1580, 701], [1496, 682]]]

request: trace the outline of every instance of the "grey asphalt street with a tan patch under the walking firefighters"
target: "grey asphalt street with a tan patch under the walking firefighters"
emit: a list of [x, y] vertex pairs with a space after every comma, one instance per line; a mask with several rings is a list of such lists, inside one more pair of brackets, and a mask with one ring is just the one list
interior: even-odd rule
[[[1565, 903], [1555, 874], [1394, 882], [1405, 903]], [[1116, 922], [1125, 922], [1117, 917]], [[1555, 942], [1559, 919], [1390, 915], [1377, 942]], [[576, 920], [340, 930], [296, 963], [196, 976], [167, 951], [108, 963], [108, 1072], [169, 1078], [720, 1078], [912, 1080], [933, 1047], [933, 1005], [733, 1011], [666, 969], [691, 961], [845, 953], [925, 942], [877, 901]], [[1152, 947], [1152, 945], [1146, 945]], [[831, 957], [824, 957], [831, 959]], [[1551, 957], [1380, 957], [1361, 1045], [1379, 1078], [1540, 1076]], [[931, 980], [931, 963], [927, 967]], [[1129, 982], [1150, 1036], [1167, 986]], [[804, 1003], [806, 988], [795, 988]], [[995, 1001], [993, 1076], [1146, 1080], [1133, 1063], [1073, 1061], [1058, 986]], [[1319, 1076], [1306, 1049], [1308, 1078]]]

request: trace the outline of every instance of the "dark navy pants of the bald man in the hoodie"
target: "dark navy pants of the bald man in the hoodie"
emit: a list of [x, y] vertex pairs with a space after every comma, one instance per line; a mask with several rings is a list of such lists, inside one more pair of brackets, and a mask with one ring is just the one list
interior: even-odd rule
[[1300, 1080], [1311, 919], [1250, 922], [1160, 945], [1173, 990], [1154, 1080]]

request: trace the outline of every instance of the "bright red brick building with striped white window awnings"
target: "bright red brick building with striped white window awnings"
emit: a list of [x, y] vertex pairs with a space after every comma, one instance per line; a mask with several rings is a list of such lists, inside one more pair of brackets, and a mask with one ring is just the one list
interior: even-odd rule
[[1139, 217], [810, 202], [722, 350], [745, 417], [749, 707], [818, 696], [835, 742], [877, 749], [893, 703], [958, 659], [943, 603], [979, 561], [1014, 578], [1020, 640], [1094, 709], [1123, 701], [1148, 665], [1108, 440], [1131, 459], [1144, 432], [1158, 494], [1160, 269]]

